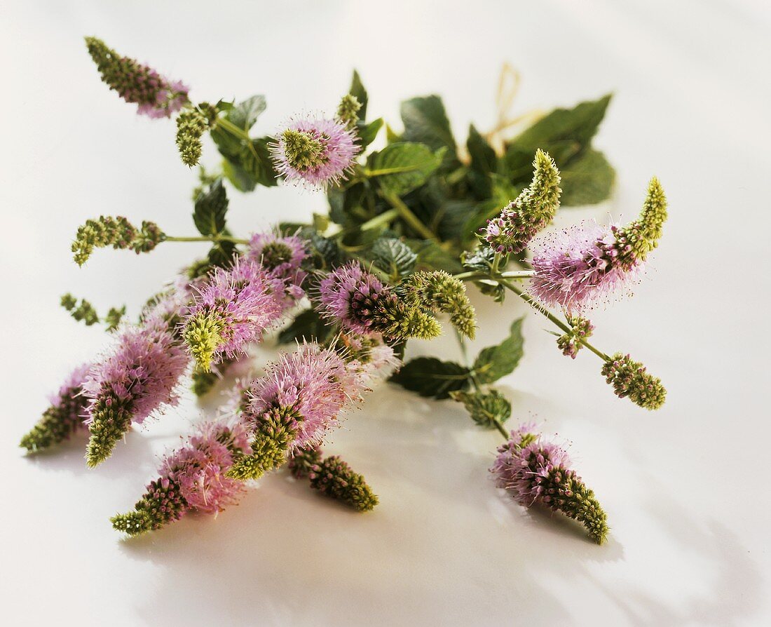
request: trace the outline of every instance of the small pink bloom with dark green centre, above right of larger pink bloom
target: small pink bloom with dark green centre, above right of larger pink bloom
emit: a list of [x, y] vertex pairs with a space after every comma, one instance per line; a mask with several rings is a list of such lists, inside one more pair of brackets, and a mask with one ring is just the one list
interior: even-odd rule
[[308, 242], [297, 235], [281, 237], [274, 232], [256, 233], [249, 240], [246, 257], [261, 264], [271, 278], [284, 281], [288, 298], [293, 301], [305, 296], [302, 289], [307, 273], [301, 269], [308, 258]]

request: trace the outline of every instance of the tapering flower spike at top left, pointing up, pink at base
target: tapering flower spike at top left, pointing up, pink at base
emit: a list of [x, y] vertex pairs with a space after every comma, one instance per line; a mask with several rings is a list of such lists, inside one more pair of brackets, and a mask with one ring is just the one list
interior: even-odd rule
[[187, 103], [188, 88], [180, 81], [171, 81], [135, 59], [120, 56], [96, 37], [86, 37], [86, 46], [103, 82], [127, 103], [139, 105], [136, 113], [170, 117]]

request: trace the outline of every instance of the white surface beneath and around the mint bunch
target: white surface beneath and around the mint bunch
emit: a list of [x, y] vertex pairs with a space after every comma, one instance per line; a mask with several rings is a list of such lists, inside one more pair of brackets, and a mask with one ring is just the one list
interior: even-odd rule
[[[767, 625], [768, 103], [763, 2], [6, 2], [0, 6], [2, 149], [2, 615], [8, 625]], [[496, 433], [453, 403], [379, 389], [335, 434], [382, 504], [356, 515], [284, 474], [239, 507], [120, 541], [157, 456], [196, 420], [187, 400], [132, 433], [98, 470], [82, 441], [25, 459], [45, 396], [104, 342], [58, 308], [62, 292], [136, 312], [204, 247], [99, 251], [69, 241], [86, 217], [148, 217], [192, 233], [194, 174], [173, 124], [133, 114], [99, 83], [82, 35], [185, 79], [196, 99], [268, 96], [260, 133], [331, 109], [357, 67], [372, 117], [440, 93], [456, 136], [493, 123], [500, 63], [517, 101], [616, 93], [597, 143], [618, 168], [611, 211], [631, 216], [651, 174], [671, 202], [654, 271], [596, 316], [597, 343], [662, 376], [658, 413], [616, 399], [591, 354], [560, 356], [530, 315], [507, 379], [514, 419], [572, 441], [608, 510], [598, 548], [529, 514], [487, 478]], [[206, 155], [214, 162], [214, 153]], [[322, 197], [235, 196], [237, 232], [304, 217]], [[580, 214], [576, 214], [580, 215]], [[480, 302], [479, 299], [477, 299]], [[476, 346], [524, 308], [487, 305]], [[440, 351], [454, 357], [452, 342]]]

